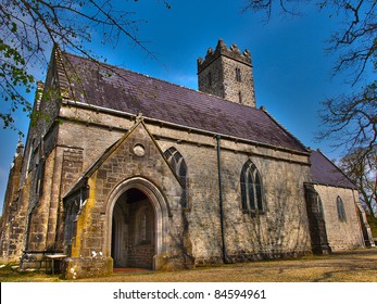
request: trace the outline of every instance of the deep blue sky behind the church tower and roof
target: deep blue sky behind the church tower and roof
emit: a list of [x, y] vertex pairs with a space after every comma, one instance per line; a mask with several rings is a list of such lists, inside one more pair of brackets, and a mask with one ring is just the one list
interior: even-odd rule
[[[243, 0], [169, 0], [169, 10], [162, 1], [124, 3], [137, 12], [137, 18], [148, 21], [140, 24], [138, 35], [158, 60], [127, 41], [118, 41], [115, 49], [91, 46], [95, 53], [111, 64], [197, 89], [197, 59], [204, 56], [209, 47], [215, 48], [222, 38], [228, 47], [248, 48], [257, 107], [266, 106], [305, 145], [321, 148], [330, 159], [339, 155], [341, 151], [334, 151], [329, 142], [314, 141], [321, 126], [321, 101], [350, 90], [342, 77], [331, 78], [337, 56], [325, 51], [325, 41], [339, 26], [336, 17], [303, 5], [300, 17], [277, 16], [264, 23], [262, 14], [241, 12]], [[37, 78], [43, 80], [45, 76]], [[28, 119], [22, 113], [15, 118], [26, 135]], [[1, 207], [17, 140], [15, 131], [0, 130]]]

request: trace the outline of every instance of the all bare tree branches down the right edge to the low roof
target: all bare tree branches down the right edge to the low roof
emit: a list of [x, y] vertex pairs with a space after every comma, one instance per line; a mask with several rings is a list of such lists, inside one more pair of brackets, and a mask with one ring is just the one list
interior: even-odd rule
[[[342, 26], [330, 34], [326, 49], [338, 54], [334, 75], [350, 72], [347, 80], [352, 93], [323, 101], [319, 115], [323, 130], [317, 139], [330, 139], [342, 147], [343, 168], [360, 187], [363, 201], [376, 201], [376, 181], [366, 186], [370, 169], [376, 169], [377, 151], [377, 80], [365, 81], [369, 67], [377, 71], [377, 1], [376, 0], [247, 0], [246, 11], [263, 12], [267, 20], [273, 12], [297, 14], [302, 5], [318, 8], [337, 16]], [[301, 5], [301, 7], [300, 7]], [[275, 11], [274, 11], [275, 10]], [[368, 168], [368, 169], [367, 169]], [[375, 178], [375, 177], [374, 177]], [[372, 178], [373, 181], [373, 178]], [[370, 181], [370, 182], [372, 182]], [[368, 205], [370, 208], [370, 205]]]

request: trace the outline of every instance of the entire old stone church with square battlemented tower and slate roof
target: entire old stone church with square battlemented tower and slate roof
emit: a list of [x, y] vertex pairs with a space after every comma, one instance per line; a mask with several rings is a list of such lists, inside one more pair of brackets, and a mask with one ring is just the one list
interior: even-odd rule
[[219, 40], [199, 91], [54, 48], [11, 167], [1, 261], [65, 278], [370, 245], [355, 186], [254, 97]]

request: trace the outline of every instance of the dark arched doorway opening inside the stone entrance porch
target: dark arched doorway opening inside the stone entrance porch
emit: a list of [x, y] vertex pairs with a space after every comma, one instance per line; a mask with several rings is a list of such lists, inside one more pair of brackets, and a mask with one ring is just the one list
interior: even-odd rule
[[130, 188], [113, 208], [111, 256], [114, 268], [153, 269], [155, 212], [148, 197]]

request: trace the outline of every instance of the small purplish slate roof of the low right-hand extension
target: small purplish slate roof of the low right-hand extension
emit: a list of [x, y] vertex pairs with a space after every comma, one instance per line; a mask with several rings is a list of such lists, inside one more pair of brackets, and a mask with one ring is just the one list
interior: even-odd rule
[[321, 151], [311, 152], [311, 173], [314, 183], [356, 189], [352, 181]]

